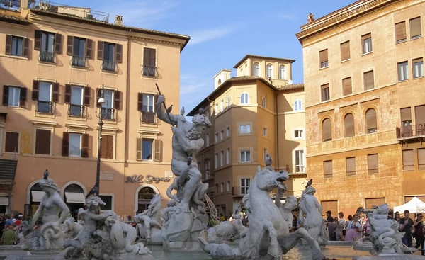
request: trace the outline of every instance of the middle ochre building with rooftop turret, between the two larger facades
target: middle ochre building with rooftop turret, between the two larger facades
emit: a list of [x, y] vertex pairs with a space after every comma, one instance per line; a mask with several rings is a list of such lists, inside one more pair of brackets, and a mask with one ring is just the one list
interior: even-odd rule
[[208, 195], [227, 217], [242, 205], [266, 154], [290, 173], [288, 195], [299, 197], [305, 186], [304, 86], [292, 84], [293, 62], [246, 55], [234, 66], [237, 77], [222, 69], [214, 91], [188, 113], [204, 108], [212, 122], [197, 160]]

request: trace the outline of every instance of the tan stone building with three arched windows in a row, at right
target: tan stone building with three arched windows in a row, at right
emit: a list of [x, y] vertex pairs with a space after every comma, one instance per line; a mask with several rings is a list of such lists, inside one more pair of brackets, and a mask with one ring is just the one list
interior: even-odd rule
[[425, 1], [356, 1], [301, 26], [307, 176], [324, 210], [425, 198]]

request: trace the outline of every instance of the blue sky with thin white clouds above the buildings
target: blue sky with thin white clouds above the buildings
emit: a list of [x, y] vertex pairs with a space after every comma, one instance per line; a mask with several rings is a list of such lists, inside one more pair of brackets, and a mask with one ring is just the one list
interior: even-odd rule
[[212, 77], [246, 54], [295, 60], [293, 81], [302, 83], [302, 47], [295, 33], [307, 14], [319, 18], [355, 0], [54, 1], [108, 12], [110, 22], [119, 14], [127, 26], [191, 36], [181, 52], [180, 101], [188, 113], [214, 90]]

